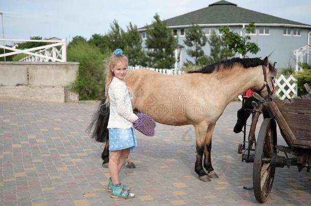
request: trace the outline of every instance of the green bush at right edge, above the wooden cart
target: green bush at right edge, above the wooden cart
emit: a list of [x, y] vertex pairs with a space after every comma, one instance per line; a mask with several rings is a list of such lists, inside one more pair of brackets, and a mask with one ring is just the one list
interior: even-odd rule
[[295, 77], [298, 84], [298, 96], [305, 95], [307, 92], [303, 84], [308, 83], [311, 86], [311, 66], [308, 64], [299, 64], [302, 67], [302, 71], [299, 71]]

